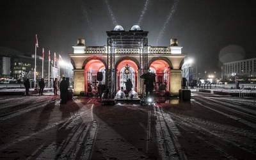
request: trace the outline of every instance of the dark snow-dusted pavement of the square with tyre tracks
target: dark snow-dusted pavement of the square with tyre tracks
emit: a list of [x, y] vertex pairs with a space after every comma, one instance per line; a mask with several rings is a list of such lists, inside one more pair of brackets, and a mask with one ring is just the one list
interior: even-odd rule
[[1, 159], [253, 159], [256, 99], [192, 91], [152, 106], [0, 97]]

